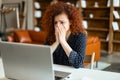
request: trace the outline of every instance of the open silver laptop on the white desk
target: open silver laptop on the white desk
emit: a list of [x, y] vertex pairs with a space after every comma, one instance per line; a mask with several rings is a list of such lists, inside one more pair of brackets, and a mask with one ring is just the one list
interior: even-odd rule
[[50, 46], [47, 45], [1, 41], [0, 53], [7, 80], [61, 80], [70, 74], [54, 72]]

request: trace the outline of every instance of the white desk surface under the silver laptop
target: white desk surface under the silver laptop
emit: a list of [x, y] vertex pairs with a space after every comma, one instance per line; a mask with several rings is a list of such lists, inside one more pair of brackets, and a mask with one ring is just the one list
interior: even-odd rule
[[[75, 69], [63, 65], [54, 65], [54, 70], [71, 72], [67, 80], [120, 80], [120, 73], [107, 72], [101, 70]], [[0, 59], [0, 79], [4, 78], [4, 70]]]

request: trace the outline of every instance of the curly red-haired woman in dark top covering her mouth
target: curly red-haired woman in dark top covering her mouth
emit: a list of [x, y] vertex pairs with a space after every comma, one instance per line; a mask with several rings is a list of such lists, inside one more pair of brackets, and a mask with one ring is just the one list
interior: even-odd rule
[[47, 31], [45, 44], [51, 45], [55, 64], [83, 67], [86, 50], [86, 31], [79, 10], [66, 3], [50, 5], [42, 18]]

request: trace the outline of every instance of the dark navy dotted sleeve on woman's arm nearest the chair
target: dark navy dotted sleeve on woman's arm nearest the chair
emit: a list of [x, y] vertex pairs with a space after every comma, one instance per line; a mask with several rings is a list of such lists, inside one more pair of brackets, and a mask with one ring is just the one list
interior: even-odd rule
[[80, 34], [74, 45], [75, 48], [70, 53], [69, 62], [75, 68], [83, 67], [86, 51], [86, 35]]

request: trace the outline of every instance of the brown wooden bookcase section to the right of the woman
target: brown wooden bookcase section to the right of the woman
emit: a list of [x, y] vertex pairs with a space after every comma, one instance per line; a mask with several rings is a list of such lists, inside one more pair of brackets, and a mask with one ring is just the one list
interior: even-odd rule
[[[107, 7], [108, 0], [98, 2], [99, 7], [94, 7], [96, 0], [85, 0], [87, 7], [82, 8], [83, 19], [87, 21], [89, 35], [95, 35], [100, 38], [101, 50], [107, 53], [120, 51], [120, 30], [113, 30], [112, 22], [116, 21], [120, 29], [120, 19], [114, 17], [113, 11], [117, 11], [120, 16], [120, 7], [113, 6], [114, 0], [110, 0], [110, 6]], [[93, 15], [90, 18], [90, 15]], [[109, 40], [106, 38], [109, 34]]]

